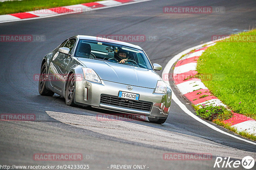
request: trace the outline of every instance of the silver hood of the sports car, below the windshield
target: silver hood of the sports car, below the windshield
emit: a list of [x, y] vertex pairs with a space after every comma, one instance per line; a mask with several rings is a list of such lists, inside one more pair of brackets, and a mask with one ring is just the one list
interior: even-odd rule
[[92, 68], [101, 80], [155, 89], [161, 77], [153, 70], [101, 60], [78, 58], [86, 67]]

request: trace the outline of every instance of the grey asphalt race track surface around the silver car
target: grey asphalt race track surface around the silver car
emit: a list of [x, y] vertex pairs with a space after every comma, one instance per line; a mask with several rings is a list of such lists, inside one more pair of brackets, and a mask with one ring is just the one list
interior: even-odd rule
[[[164, 6], [224, 6], [225, 14], [164, 14]], [[172, 102], [163, 125], [148, 121], [98, 121], [109, 111], [69, 107], [64, 98], [40, 96], [34, 74], [43, 56], [76, 34], [142, 34], [135, 42], [163, 67], [177, 53], [212, 35], [256, 24], [255, 1], [154, 0], [79, 14], [0, 24], [1, 34], [45, 35], [44, 42], [0, 43], [0, 112], [33, 113], [36, 120], [0, 121], [0, 165], [146, 165], [146, 169], [214, 169], [217, 156], [256, 158], [256, 146], [200, 124]], [[156, 36], [157, 40], [150, 40]], [[172, 71], [172, 70], [171, 70]], [[159, 72], [161, 75], [161, 71]], [[170, 80], [170, 83], [173, 82]], [[176, 96], [179, 93], [173, 91]], [[183, 103], [186, 100], [180, 97]], [[186, 104], [189, 110], [193, 108]], [[61, 113], [59, 113], [61, 112]], [[219, 127], [221, 130], [225, 129]], [[231, 133], [231, 132], [229, 132]], [[212, 160], [163, 160], [163, 153], [211, 153]], [[35, 161], [35, 153], [82, 153], [82, 161]], [[86, 159], [86, 155], [93, 155]], [[255, 166], [254, 166], [255, 167]], [[113, 169], [113, 168], [112, 168]], [[241, 166], [236, 169], [243, 169]]]

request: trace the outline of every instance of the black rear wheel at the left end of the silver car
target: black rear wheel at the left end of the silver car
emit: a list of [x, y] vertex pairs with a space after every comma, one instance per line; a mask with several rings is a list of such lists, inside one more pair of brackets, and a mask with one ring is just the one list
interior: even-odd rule
[[45, 77], [46, 76], [46, 63], [43, 64], [40, 71], [40, 78], [38, 82], [38, 92], [42, 96], [53, 96], [54, 92], [46, 89], [45, 87]]

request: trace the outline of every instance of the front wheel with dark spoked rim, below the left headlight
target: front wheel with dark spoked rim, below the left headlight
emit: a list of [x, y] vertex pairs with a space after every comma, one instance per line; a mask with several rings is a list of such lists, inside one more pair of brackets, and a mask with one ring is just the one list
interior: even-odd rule
[[65, 100], [66, 104], [68, 106], [75, 106], [76, 104], [74, 103], [74, 96], [75, 96], [75, 89], [76, 89], [76, 78], [75, 74], [69, 74], [68, 75], [68, 82], [67, 82], [67, 87], [66, 87], [66, 94], [65, 94]]

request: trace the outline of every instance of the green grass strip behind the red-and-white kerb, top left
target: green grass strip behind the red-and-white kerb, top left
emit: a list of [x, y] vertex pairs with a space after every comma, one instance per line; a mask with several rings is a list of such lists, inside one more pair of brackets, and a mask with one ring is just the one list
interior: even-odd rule
[[[96, 0], [23, 0], [0, 2], [0, 15], [18, 12], [34, 11], [36, 9], [48, 9], [53, 7], [83, 4]], [[97, 0], [100, 1], [100, 0]]]

